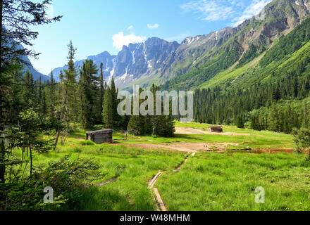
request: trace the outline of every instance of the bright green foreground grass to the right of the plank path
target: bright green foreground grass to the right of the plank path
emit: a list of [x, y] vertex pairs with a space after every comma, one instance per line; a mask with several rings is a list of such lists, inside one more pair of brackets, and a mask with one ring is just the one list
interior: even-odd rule
[[[168, 210], [310, 210], [310, 164], [305, 155], [202, 153], [178, 173], [161, 176]], [[256, 204], [256, 187], [266, 192]]]

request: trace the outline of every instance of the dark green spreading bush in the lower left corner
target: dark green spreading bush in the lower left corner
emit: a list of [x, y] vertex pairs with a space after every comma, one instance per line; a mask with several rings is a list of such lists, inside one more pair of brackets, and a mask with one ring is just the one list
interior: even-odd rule
[[[0, 210], [61, 210], [82, 198], [82, 185], [97, 179], [99, 166], [93, 160], [69, 160], [68, 156], [50, 162], [23, 181], [0, 184]], [[54, 191], [54, 204], [43, 203], [45, 187]]]

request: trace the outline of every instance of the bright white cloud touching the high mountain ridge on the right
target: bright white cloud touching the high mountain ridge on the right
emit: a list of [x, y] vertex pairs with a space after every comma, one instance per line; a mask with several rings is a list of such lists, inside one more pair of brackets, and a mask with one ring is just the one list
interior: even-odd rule
[[272, 0], [254, 0], [252, 3], [245, 8], [242, 15], [240, 17], [233, 19], [233, 26], [237, 27], [240, 25], [244, 20], [252, 18], [254, 15], [258, 15], [261, 13], [260, 17], [256, 17], [257, 20], [264, 20], [264, 12], [261, 12], [263, 8]]

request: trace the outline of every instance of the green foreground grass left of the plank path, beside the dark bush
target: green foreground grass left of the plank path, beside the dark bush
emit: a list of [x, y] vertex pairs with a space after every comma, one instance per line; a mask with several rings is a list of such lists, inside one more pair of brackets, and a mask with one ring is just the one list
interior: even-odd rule
[[80, 204], [63, 210], [155, 210], [153, 197], [147, 188], [149, 180], [159, 171], [174, 169], [185, 159], [184, 153], [168, 150], [144, 150], [95, 143], [85, 145], [89, 141], [70, 139], [59, 146], [56, 152], [35, 154], [35, 166], [46, 165], [65, 155], [70, 155], [72, 160], [94, 158], [103, 176], [93, 183], [116, 177], [118, 179], [106, 186], [93, 186], [83, 191]]

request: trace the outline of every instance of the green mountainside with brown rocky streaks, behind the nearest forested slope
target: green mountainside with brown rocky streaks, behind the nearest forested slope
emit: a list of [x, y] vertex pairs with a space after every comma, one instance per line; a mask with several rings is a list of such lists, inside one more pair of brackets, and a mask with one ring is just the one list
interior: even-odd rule
[[309, 8], [310, 1], [272, 1], [259, 15], [234, 28], [235, 34], [228, 41], [204, 53], [188, 72], [163, 84], [163, 89], [195, 89], [216, 75], [226, 75], [251, 61], [252, 67], [280, 37], [309, 16]]

